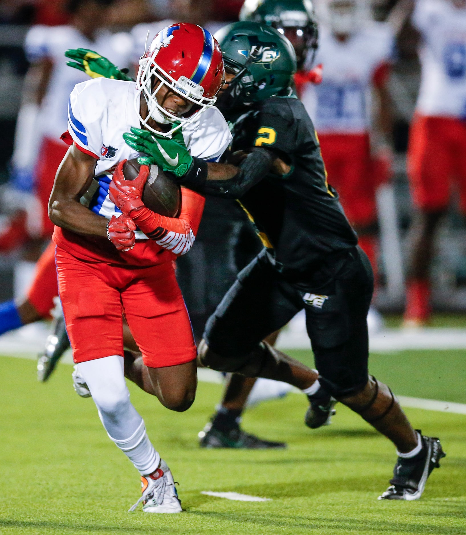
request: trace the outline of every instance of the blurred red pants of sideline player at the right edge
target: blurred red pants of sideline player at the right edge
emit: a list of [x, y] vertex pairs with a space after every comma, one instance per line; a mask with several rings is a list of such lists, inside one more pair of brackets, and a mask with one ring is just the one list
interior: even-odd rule
[[466, 121], [416, 114], [409, 132], [408, 177], [417, 208], [445, 210], [456, 185], [466, 212]]

